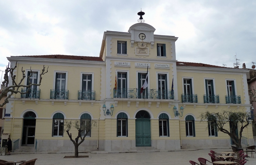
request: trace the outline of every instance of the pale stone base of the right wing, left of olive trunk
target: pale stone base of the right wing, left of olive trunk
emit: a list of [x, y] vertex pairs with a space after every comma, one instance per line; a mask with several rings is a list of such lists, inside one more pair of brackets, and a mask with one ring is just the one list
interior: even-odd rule
[[203, 149], [230, 147], [230, 139], [195, 139], [181, 140], [181, 149]]

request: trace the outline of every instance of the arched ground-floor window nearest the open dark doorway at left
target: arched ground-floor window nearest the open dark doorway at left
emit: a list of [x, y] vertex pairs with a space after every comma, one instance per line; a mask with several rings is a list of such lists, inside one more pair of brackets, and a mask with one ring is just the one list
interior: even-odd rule
[[53, 136], [63, 137], [64, 132], [64, 115], [62, 113], [55, 113], [53, 115]]

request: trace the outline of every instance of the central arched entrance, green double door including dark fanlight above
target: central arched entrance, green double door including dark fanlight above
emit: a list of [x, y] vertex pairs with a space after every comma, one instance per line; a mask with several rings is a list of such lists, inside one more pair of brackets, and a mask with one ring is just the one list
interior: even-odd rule
[[135, 115], [136, 146], [151, 146], [150, 114], [140, 110]]

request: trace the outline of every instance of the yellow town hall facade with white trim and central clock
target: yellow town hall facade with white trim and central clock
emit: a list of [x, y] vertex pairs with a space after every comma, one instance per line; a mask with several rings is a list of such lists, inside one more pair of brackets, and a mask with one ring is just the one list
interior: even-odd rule
[[[93, 120], [97, 127], [92, 127], [80, 151], [230, 146], [230, 137], [208, 130], [208, 122], [200, 122], [199, 115], [206, 110], [249, 111], [248, 71], [177, 62], [178, 38], [154, 31], [146, 23], [134, 24], [128, 33], [106, 31], [99, 57], [8, 57], [11, 66], [18, 61], [17, 80], [23, 69], [38, 82], [43, 65], [49, 68], [41, 86], [9, 99], [4, 132], [13, 142], [20, 139], [18, 146], [72, 151], [64, 122]], [[142, 90], [145, 81], [147, 88]], [[76, 135], [76, 129], [71, 133]], [[243, 136], [254, 143], [251, 127]]]

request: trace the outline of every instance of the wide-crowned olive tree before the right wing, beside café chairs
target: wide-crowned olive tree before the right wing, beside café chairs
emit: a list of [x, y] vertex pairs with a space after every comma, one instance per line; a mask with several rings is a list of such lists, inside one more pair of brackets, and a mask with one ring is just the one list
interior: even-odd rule
[[[244, 128], [249, 125], [248, 119], [250, 119], [250, 117], [250, 113], [236, 112], [233, 110], [222, 110], [221, 112], [207, 111], [200, 114], [201, 122], [208, 120], [208, 122], [214, 123], [214, 126], [217, 128], [217, 130], [228, 134], [235, 145], [239, 148], [242, 147], [242, 132]], [[238, 124], [241, 126], [239, 136], [236, 134]], [[228, 125], [230, 129], [225, 129], [226, 125]]]

